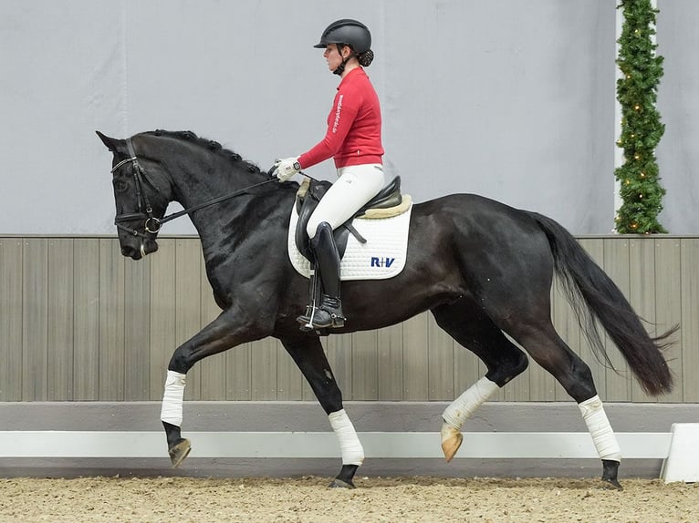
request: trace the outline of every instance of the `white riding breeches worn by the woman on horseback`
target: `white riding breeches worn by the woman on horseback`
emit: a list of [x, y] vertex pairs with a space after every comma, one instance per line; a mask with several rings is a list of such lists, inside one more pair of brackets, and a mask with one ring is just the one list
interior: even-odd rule
[[308, 238], [316, 235], [318, 225], [323, 221], [327, 221], [333, 230], [337, 229], [386, 184], [383, 167], [378, 163], [340, 168], [338, 177], [308, 220]]

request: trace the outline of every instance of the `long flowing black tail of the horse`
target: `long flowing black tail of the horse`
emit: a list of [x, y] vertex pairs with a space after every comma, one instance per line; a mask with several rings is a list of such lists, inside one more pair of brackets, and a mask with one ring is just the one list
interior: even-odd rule
[[595, 320], [601, 323], [611, 341], [619, 348], [646, 393], [669, 393], [673, 389], [673, 375], [662, 356], [662, 350], [672, 344], [668, 338], [677, 331], [678, 326], [673, 326], [660, 336], [651, 337], [619, 287], [589, 257], [569, 231], [546, 216], [536, 212], [529, 212], [529, 215], [548, 238], [556, 273], [600, 362], [604, 360], [613, 368]]

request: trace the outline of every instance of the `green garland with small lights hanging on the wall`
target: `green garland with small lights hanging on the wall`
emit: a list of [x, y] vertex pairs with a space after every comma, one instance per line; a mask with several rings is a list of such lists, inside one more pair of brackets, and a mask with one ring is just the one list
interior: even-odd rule
[[621, 104], [621, 137], [624, 164], [614, 170], [621, 186], [623, 203], [614, 219], [620, 233], [667, 232], [658, 222], [665, 190], [660, 185], [655, 147], [665, 126], [655, 108], [662, 77], [662, 56], [655, 55], [655, 15], [651, 0], [621, 0], [623, 9], [617, 64]]

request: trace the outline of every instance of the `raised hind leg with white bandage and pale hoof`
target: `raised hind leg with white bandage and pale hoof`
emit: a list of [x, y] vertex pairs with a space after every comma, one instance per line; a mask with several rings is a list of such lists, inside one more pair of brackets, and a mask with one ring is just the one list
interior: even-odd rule
[[483, 309], [465, 298], [440, 305], [432, 313], [444, 331], [477, 355], [487, 367], [485, 376], [444, 410], [442, 450], [446, 460], [451, 461], [461, 446], [461, 427], [466, 419], [499, 387], [524, 372], [527, 355], [506, 338]]

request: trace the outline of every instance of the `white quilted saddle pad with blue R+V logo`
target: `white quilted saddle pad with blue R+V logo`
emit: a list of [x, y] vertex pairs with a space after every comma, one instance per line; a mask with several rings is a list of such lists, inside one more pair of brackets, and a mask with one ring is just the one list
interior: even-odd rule
[[[354, 228], [366, 239], [360, 243], [350, 232], [347, 250], [339, 265], [339, 279], [383, 280], [399, 274], [405, 267], [408, 252], [408, 227], [410, 209], [398, 216], [381, 219], [356, 218]], [[289, 260], [299, 274], [310, 277], [310, 262], [298, 251], [295, 240], [298, 213], [296, 205], [291, 208], [289, 220]]]

